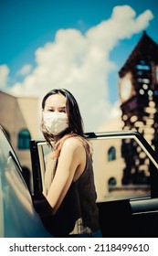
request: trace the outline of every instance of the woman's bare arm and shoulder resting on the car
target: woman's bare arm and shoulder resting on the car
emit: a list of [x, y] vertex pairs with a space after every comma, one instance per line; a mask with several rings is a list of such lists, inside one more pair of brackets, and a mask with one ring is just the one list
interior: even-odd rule
[[83, 144], [76, 138], [68, 138], [62, 146], [56, 175], [47, 193], [47, 201], [55, 214], [68, 192], [75, 173], [85, 166], [86, 153]]

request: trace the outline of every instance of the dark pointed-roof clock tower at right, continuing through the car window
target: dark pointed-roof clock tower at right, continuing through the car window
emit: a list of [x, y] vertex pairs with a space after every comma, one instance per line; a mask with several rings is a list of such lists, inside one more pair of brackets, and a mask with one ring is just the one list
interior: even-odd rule
[[[142, 133], [146, 141], [158, 149], [158, 45], [146, 32], [133, 49], [119, 72], [122, 129]], [[150, 163], [140, 147], [135, 145], [131, 161], [132, 142], [122, 144], [124, 184], [149, 182]], [[137, 167], [135, 167], [137, 166]]]

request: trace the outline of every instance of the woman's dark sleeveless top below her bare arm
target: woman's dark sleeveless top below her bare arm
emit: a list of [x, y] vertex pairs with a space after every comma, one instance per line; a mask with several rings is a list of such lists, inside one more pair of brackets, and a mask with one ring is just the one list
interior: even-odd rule
[[87, 159], [84, 172], [76, 182], [71, 183], [57, 213], [42, 219], [45, 227], [54, 236], [67, 237], [78, 219], [91, 232], [100, 229], [92, 160], [88, 150], [85, 150]]

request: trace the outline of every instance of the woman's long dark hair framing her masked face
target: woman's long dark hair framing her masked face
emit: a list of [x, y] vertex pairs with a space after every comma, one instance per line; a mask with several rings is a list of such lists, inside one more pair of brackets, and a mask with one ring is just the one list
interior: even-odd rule
[[[67, 133], [74, 133], [78, 134], [79, 136], [84, 136], [83, 132], [83, 121], [79, 112], [79, 105], [74, 96], [66, 89], [53, 89], [51, 91], [48, 91], [45, 97], [42, 100], [42, 110], [45, 109], [45, 104], [47, 101], [47, 98], [54, 94], [62, 94], [66, 97], [66, 112], [68, 114], [68, 130], [65, 132]], [[51, 133], [48, 133], [43, 119], [41, 123], [41, 129], [42, 133], [44, 134], [47, 143], [51, 144], [53, 141], [53, 135]]]

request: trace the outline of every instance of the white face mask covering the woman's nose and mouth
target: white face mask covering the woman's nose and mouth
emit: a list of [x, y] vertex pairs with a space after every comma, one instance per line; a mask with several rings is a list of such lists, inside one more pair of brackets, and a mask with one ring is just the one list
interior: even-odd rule
[[44, 112], [43, 120], [49, 133], [59, 135], [68, 128], [68, 115], [65, 112]]

